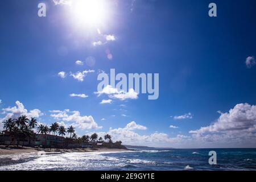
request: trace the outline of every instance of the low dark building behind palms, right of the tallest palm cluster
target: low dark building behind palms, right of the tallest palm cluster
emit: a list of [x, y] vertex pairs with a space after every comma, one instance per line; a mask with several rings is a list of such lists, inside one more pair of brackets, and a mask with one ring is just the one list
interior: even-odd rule
[[36, 135], [36, 146], [49, 146], [49, 147], [63, 147], [65, 142], [64, 137], [60, 137], [57, 135], [44, 135], [38, 134]]

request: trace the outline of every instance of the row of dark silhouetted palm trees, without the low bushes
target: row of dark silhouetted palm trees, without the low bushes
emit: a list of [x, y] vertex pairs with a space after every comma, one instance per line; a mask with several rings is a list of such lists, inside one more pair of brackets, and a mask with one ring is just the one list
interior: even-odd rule
[[[35, 127], [37, 127], [35, 129]], [[75, 127], [69, 126], [67, 129], [65, 129], [64, 126], [60, 126], [59, 123], [53, 123], [51, 126], [40, 124], [38, 125], [38, 121], [35, 118], [30, 118], [26, 115], [21, 115], [17, 119], [6, 119], [5, 122], [3, 122], [3, 128], [5, 129], [5, 133], [8, 132], [11, 136], [12, 141], [16, 139], [17, 146], [19, 146], [19, 141], [24, 140], [28, 138], [29, 144], [31, 139], [36, 139], [36, 133], [37, 134], [59, 134], [61, 137], [64, 137], [67, 133], [69, 134], [69, 140], [73, 140], [73, 142], [76, 143], [89, 143], [89, 142], [103, 142], [104, 139], [106, 142], [112, 143], [112, 137], [109, 134], [106, 134], [104, 136], [104, 139], [102, 137], [98, 137], [97, 133], [89, 135], [83, 135], [82, 137], [77, 137], [77, 134], [75, 133]], [[36, 131], [36, 133], [35, 133]]]

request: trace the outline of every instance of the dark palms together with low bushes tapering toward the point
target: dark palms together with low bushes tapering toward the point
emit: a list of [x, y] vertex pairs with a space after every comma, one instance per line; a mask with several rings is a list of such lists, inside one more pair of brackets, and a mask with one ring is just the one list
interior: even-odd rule
[[[28, 118], [26, 115], [21, 115], [17, 119], [6, 119], [3, 122], [3, 131], [2, 135], [9, 135], [11, 137], [10, 145], [14, 145], [16, 141], [16, 146], [24, 146], [24, 140], [28, 140], [29, 146], [32, 146], [31, 140], [36, 140], [36, 135], [44, 135], [44, 140], [47, 140], [47, 135], [52, 134], [54, 136], [64, 137], [66, 134], [69, 134], [69, 137], [66, 137], [63, 141], [63, 147], [81, 147], [81, 146], [92, 146], [96, 147], [108, 147], [108, 148], [125, 148], [122, 146], [122, 142], [118, 141], [113, 143], [112, 137], [109, 134], [105, 136], [98, 137], [97, 133], [92, 135], [83, 135], [78, 137], [75, 132], [75, 127], [69, 126], [65, 129], [64, 126], [60, 126], [59, 123], [53, 123], [51, 126], [39, 124], [35, 118]], [[20, 143], [21, 142], [21, 143]], [[51, 146], [44, 146], [51, 147]]]

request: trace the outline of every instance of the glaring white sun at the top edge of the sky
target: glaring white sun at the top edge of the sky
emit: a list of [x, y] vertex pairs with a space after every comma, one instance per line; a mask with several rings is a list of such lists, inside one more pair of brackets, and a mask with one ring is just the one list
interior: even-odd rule
[[72, 5], [72, 14], [80, 26], [100, 26], [108, 16], [105, 0], [76, 0]]

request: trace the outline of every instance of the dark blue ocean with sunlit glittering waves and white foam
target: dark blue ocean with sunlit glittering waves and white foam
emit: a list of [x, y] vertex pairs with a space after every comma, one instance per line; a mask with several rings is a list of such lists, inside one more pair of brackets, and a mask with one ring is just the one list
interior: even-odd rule
[[[209, 151], [217, 152], [217, 164], [210, 165]], [[5, 170], [256, 170], [256, 149], [136, 149], [129, 152], [84, 152], [65, 154], [0, 155]]]

